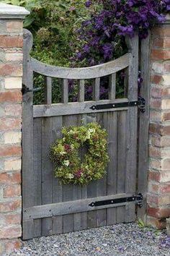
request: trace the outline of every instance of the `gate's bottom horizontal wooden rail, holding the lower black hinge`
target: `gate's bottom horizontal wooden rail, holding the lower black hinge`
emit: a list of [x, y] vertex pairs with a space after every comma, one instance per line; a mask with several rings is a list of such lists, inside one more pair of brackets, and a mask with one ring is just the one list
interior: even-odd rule
[[91, 210], [100, 210], [106, 208], [115, 208], [117, 206], [125, 206], [129, 205], [130, 203], [135, 202], [121, 202], [114, 205], [101, 205], [94, 208], [91, 208], [89, 204], [95, 201], [102, 201], [102, 200], [112, 200], [122, 197], [133, 197], [133, 194], [119, 194], [119, 195], [107, 195], [104, 197], [94, 197], [94, 198], [87, 198], [82, 200], [74, 200], [68, 202], [58, 202], [49, 205], [38, 205], [33, 206], [32, 208], [24, 209], [24, 219], [23, 221], [28, 221], [31, 219], [37, 218], [49, 218], [53, 216], [62, 216], [69, 213], [84, 213], [86, 211]]

